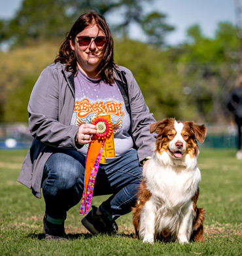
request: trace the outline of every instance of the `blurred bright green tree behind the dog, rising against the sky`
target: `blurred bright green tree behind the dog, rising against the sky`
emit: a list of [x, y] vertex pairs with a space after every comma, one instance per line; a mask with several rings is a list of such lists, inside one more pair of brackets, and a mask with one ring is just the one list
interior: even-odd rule
[[179, 74], [184, 91], [202, 120], [224, 121], [228, 91], [237, 75], [236, 28], [228, 22], [218, 24], [214, 38], [201, 28], [188, 28], [188, 43], [179, 46]]

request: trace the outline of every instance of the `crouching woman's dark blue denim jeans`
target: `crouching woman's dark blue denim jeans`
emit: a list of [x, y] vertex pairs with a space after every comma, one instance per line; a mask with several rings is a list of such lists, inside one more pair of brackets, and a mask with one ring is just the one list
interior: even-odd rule
[[[84, 188], [85, 161], [85, 156], [75, 150], [61, 150], [46, 161], [42, 188], [49, 217], [65, 219], [67, 211], [80, 202]], [[131, 211], [142, 171], [135, 149], [112, 163], [99, 165], [94, 196], [111, 194], [100, 205], [101, 211], [109, 219], [116, 219]]]

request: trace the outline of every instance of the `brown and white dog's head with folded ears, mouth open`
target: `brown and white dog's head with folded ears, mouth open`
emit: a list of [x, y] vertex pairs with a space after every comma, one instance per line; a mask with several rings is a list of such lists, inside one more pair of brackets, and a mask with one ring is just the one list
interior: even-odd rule
[[150, 125], [150, 133], [157, 133], [156, 152], [167, 152], [171, 158], [181, 159], [189, 154], [191, 158], [198, 156], [197, 141], [203, 142], [206, 136], [205, 125], [197, 125], [193, 121], [176, 121], [163, 119]]

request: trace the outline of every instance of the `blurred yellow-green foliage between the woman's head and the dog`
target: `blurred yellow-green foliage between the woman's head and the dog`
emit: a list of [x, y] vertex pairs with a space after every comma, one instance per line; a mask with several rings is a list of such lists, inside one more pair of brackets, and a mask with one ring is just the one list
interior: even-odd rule
[[184, 104], [177, 67], [169, 60], [166, 51], [139, 41], [117, 41], [114, 57], [118, 64], [133, 72], [156, 119], [184, 117], [188, 109]]

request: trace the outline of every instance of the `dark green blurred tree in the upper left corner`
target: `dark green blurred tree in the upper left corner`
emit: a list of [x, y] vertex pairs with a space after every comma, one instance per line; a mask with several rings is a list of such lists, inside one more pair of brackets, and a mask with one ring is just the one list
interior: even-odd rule
[[65, 0], [24, 0], [16, 16], [3, 21], [5, 29], [1, 39], [24, 45], [29, 40], [63, 37], [73, 20], [68, 8]]

